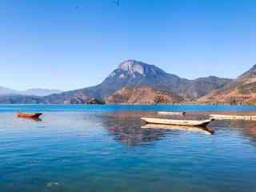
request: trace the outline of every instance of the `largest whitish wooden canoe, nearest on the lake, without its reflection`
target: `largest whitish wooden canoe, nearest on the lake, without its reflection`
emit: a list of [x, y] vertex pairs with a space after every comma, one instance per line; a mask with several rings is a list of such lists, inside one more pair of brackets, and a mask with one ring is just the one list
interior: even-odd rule
[[164, 118], [142, 118], [147, 123], [173, 125], [173, 126], [207, 126], [214, 119], [206, 120], [178, 120], [178, 119], [164, 119]]

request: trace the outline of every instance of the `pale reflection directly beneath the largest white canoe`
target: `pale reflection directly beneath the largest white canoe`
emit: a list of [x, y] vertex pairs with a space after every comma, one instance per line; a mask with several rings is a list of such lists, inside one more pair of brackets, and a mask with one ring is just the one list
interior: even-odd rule
[[164, 129], [164, 130], [187, 130], [191, 132], [200, 132], [202, 134], [214, 134], [214, 130], [200, 126], [172, 126], [160, 124], [146, 124], [142, 129]]

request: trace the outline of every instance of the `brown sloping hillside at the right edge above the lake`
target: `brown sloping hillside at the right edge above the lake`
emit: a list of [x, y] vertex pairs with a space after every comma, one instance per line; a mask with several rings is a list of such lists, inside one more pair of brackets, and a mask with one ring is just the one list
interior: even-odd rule
[[256, 65], [221, 89], [199, 98], [198, 102], [256, 104]]

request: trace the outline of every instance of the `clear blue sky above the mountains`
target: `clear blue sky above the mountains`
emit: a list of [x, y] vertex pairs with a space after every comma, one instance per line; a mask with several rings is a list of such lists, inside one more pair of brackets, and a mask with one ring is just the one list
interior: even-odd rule
[[73, 90], [134, 58], [182, 78], [256, 63], [254, 0], [1, 0], [0, 86]]

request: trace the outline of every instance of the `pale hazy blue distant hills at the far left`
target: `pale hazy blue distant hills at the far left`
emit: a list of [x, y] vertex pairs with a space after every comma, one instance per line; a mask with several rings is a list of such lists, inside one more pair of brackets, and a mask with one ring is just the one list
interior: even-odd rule
[[47, 89], [30, 89], [30, 90], [11, 90], [9, 88], [0, 86], [0, 96], [2, 95], [34, 95], [34, 96], [47, 96], [50, 94], [60, 94], [61, 90], [47, 90]]

